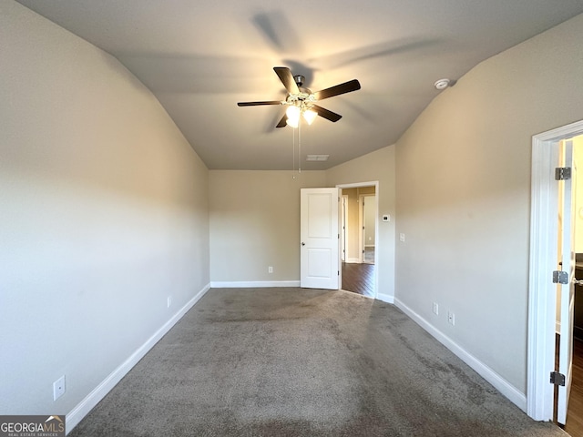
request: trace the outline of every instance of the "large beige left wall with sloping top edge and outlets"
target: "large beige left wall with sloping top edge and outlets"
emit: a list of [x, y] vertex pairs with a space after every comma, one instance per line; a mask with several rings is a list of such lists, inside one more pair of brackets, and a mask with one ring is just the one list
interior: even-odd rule
[[209, 283], [208, 170], [114, 57], [0, 11], [0, 414], [68, 414]]

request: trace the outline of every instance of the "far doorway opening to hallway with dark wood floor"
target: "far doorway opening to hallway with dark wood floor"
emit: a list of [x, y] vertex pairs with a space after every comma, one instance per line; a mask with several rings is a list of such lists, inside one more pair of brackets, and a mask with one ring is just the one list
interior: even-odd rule
[[[378, 284], [378, 182], [339, 185], [342, 189], [341, 288], [375, 298]], [[343, 252], [341, 249], [341, 253]]]

